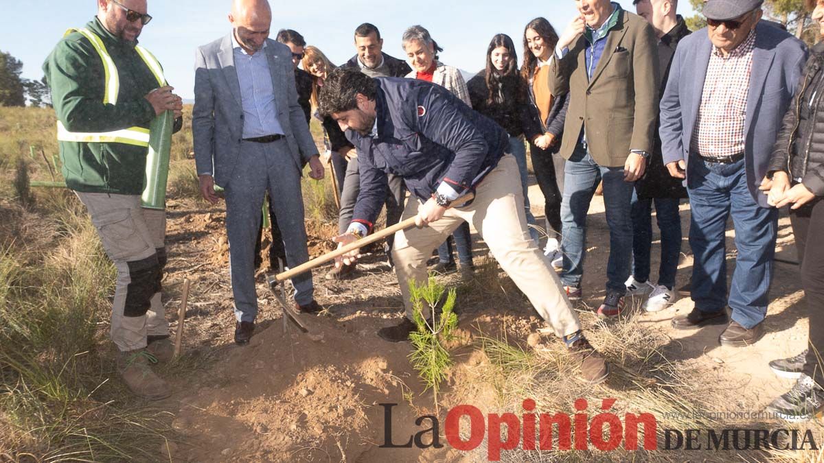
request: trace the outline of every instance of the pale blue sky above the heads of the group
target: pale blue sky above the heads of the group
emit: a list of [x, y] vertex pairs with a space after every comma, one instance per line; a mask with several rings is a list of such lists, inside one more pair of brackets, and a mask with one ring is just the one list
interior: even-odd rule
[[[622, 0], [620, 4], [634, 12], [631, 0]], [[148, 12], [154, 19], [143, 29], [140, 41], [160, 60], [166, 78], [180, 96], [190, 99], [194, 94], [194, 50], [231, 30], [227, 20], [230, 5], [230, 0], [148, 0]], [[381, 30], [383, 50], [399, 58], [400, 35], [406, 27], [420, 24], [444, 49], [444, 63], [471, 72], [484, 67], [486, 47], [493, 35], [508, 34], [520, 52], [523, 26], [532, 18], [544, 16], [560, 33], [575, 15], [573, 0], [309, 0], [272, 1], [272, 7], [273, 38], [281, 28], [297, 30], [308, 44], [323, 50], [335, 64], [352, 57], [353, 30], [365, 21]], [[691, 14], [689, 2], [681, 2], [680, 8], [681, 13]], [[0, 11], [0, 50], [23, 62], [23, 77], [39, 79], [43, 75], [40, 66], [63, 31], [91, 20], [96, 14], [96, 2], [0, 0]]]

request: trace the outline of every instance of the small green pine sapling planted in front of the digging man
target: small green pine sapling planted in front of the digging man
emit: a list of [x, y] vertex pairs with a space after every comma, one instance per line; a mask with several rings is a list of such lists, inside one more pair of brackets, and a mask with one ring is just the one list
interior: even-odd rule
[[[452, 367], [452, 357], [443, 344], [452, 339], [452, 331], [458, 325], [458, 317], [453, 311], [455, 289], [446, 292], [446, 300], [443, 300], [444, 292], [446, 288], [431, 275], [426, 284], [417, 285], [410, 282], [413, 319], [418, 326], [418, 330], [410, 334], [410, 341], [414, 346], [414, 351], [410, 353], [410, 361], [424, 381], [426, 389], [432, 389], [436, 409], [438, 390], [442, 381], [446, 379], [447, 368]], [[442, 306], [438, 310], [441, 302]], [[430, 320], [424, 318], [424, 308], [431, 314]]]

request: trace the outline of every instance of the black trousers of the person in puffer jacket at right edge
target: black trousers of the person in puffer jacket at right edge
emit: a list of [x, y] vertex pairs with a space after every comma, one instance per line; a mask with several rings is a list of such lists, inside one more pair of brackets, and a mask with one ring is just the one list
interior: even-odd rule
[[809, 353], [804, 373], [824, 386], [824, 201], [790, 211], [798, 260], [801, 261], [801, 287], [810, 312]]

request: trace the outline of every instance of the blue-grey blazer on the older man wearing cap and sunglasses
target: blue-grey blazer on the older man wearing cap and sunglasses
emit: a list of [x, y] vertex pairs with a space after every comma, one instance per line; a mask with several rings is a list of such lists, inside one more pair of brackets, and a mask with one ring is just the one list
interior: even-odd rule
[[[712, 43], [702, 29], [678, 43], [672, 58], [667, 87], [661, 98], [661, 143], [664, 164], [688, 161], [692, 130], [698, 119]], [[756, 26], [756, 49], [752, 54], [750, 91], [744, 130], [747, 186], [753, 199], [768, 207], [758, 190], [766, 173], [781, 119], [800, 81], [807, 47], [784, 30], [761, 21]], [[689, 169], [687, 169], [689, 171]], [[685, 185], [689, 186], [687, 174]]]

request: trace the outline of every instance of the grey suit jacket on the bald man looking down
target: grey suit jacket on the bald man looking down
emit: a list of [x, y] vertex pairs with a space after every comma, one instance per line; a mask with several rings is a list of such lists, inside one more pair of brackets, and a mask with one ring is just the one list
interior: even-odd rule
[[[306, 115], [297, 103], [292, 52], [286, 45], [269, 39], [262, 53], [269, 58], [280, 125], [294, 164], [302, 171], [318, 151], [309, 133]], [[192, 133], [198, 174], [212, 174], [215, 183], [225, 187], [236, 165], [243, 133], [241, 87], [235, 70], [232, 35], [198, 48]]]

